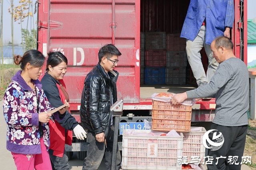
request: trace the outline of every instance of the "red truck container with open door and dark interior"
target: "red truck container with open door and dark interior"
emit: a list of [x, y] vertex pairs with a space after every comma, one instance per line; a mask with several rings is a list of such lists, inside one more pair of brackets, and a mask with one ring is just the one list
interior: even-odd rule
[[[128, 113], [134, 115], [135, 121], [141, 119], [135, 119], [136, 116], [150, 117], [152, 93], [180, 93], [195, 87], [189, 84], [192, 74], [186, 74], [186, 85], [140, 84], [140, 32], [180, 32], [189, 2], [38, 0], [38, 50], [45, 56], [48, 51], [61, 51], [68, 58], [64, 81], [77, 121], [84, 79], [98, 63], [98, 50], [107, 43], [116, 45], [122, 53], [116, 70], [120, 73], [117, 89], [118, 98], [124, 101], [124, 117]], [[247, 37], [247, 24], [243, 23], [247, 21], [247, 1], [234, 0], [234, 4], [234, 54], [247, 63], [247, 41], [243, 40]], [[192, 107], [192, 122], [212, 121], [214, 113], [214, 99], [200, 100]]]

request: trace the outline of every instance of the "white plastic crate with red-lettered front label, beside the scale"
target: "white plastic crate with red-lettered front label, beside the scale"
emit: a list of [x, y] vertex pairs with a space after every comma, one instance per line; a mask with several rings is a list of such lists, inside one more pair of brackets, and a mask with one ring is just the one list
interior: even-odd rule
[[[177, 163], [182, 156], [183, 134], [180, 137], [126, 135], [122, 140], [122, 169], [181, 170]], [[135, 130], [150, 133], [152, 130]]]

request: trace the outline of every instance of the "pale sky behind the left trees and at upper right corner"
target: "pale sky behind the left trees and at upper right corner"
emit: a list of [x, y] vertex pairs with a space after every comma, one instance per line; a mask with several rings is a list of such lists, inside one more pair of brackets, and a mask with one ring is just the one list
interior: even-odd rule
[[[34, 2], [33, 1], [33, 12], [34, 12]], [[3, 43], [8, 43], [12, 41], [12, 34], [11, 34], [11, 15], [8, 12], [8, 8], [10, 7], [10, 0], [4, 0], [4, 6], [3, 6]], [[18, 0], [14, 0], [14, 6], [18, 5]], [[256, 0], [247, 0], [248, 3], [248, 19], [253, 19], [256, 17], [255, 7], [256, 7]], [[36, 28], [36, 22], [37, 20], [37, 14], [34, 14], [34, 22], [29, 21], [29, 27], [30, 28], [30, 22], [32, 23], [32, 28], [34, 25], [34, 28]], [[27, 22], [22, 22], [22, 27], [26, 27]], [[34, 23], [34, 24], [33, 24]], [[21, 43], [21, 27], [20, 24], [18, 24], [18, 21], [14, 22], [14, 43]]]

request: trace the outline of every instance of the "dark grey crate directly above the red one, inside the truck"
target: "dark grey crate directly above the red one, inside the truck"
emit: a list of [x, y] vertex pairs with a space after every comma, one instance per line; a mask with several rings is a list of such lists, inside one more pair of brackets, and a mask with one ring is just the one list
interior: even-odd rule
[[145, 32], [145, 49], [165, 49], [165, 32]]

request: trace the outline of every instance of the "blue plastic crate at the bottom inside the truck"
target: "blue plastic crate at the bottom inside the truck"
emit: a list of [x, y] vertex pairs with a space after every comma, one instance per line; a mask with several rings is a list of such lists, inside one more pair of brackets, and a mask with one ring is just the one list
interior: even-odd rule
[[145, 67], [144, 84], [165, 84], [165, 67]]

